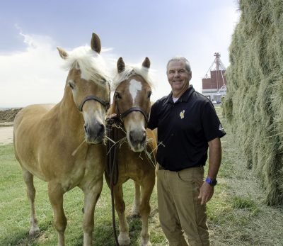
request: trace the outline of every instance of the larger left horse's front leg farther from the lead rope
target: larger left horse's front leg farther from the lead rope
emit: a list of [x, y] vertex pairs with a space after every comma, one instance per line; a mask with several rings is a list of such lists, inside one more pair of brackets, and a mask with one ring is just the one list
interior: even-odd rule
[[67, 218], [63, 208], [64, 191], [60, 184], [48, 183], [48, 196], [54, 213], [54, 227], [58, 233], [58, 246], [65, 245], [65, 230], [67, 227]]

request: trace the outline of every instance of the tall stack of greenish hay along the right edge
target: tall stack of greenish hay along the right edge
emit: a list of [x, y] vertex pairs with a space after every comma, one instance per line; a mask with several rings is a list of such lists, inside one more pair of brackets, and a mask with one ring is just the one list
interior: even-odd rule
[[246, 166], [267, 191], [266, 203], [283, 203], [283, 4], [241, 0], [230, 46], [224, 115], [238, 136]]

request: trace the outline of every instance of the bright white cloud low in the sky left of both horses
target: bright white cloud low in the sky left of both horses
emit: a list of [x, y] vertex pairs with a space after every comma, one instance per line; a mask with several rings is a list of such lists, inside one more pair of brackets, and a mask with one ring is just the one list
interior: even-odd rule
[[57, 103], [63, 96], [67, 72], [54, 40], [43, 35], [23, 36], [24, 51], [0, 55], [0, 107]]

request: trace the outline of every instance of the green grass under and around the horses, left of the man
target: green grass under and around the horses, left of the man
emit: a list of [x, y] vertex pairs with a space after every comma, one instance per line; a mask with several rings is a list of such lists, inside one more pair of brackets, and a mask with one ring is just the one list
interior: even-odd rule
[[[47, 196], [47, 183], [35, 178], [37, 190], [35, 206], [39, 220], [40, 235], [29, 237], [30, 205], [25, 195], [25, 184], [21, 167], [13, 155], [13, 145], [0, 145], [0, 245], [57, 245], [57, 232], [52, 225], [52, 208]], [[134, 183], [125, 183], [126, 213], [130, 214], [133, 200]], [[151, 242], [154, 245], [166, 245], [166, 239], [158, 225], [156, 205], [156, 189], [151, 196]], [[83, 230], [83, 192], [79, 188], [72, 189], [64, 195], [64, 211], [68, 219], [66, 245], [82, 245]], [[95, 229], [93, 242], [95, 245], [115, 245], [112, 232], [112, 213], [110, 190], [107, 184], [96, 205]], [[117, 214], [116, 214], [117, 218]], [[141, 232], [140, 218], [128, 218], [132, 245], [139, 245]], [[116, 219], [118, 228], [118, 221]]]

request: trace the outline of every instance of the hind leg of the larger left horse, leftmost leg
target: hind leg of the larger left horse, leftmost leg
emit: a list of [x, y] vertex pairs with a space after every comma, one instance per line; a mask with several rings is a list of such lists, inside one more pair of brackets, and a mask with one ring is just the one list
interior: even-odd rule
[[33, 185], [33, 174], [28, 172], [28, 170], [23, 169], [23, 180], [27, 186], [27, 196], [30, 200], [30, 231], [29, 235], [34, 236], [40, 233], [40, 228], [38, 227], [36, 213], [35, 213], [35, 186]]

